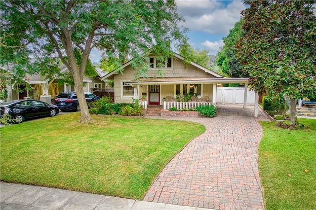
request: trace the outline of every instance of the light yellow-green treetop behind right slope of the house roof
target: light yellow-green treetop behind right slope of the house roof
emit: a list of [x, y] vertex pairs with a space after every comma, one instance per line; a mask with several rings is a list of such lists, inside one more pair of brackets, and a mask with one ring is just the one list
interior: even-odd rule
[[203, 67], [208, 67], [209, 63], [209, 51], [206, 49], [200, 50], [199, 48], [193, 49], [190, 44], [184, 44], [179, 53], [188, 59], [188, 61], [193, 61]]

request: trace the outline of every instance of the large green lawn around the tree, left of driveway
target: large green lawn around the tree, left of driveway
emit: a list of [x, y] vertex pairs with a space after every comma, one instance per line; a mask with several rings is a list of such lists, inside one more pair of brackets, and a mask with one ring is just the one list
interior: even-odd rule
[[142, 199], [163, 167], [204, 133], [194, 122], [79, 112], [1, 128], [1, 180]]

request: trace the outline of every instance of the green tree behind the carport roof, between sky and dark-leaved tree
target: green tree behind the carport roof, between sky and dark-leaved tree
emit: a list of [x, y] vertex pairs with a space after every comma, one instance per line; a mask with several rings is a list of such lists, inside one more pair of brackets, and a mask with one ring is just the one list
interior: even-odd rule
[[248, 77], [248, 74], [242, 70], [241, 65], [235, 57], [235, 44], [244, 35], [244, 31], [242, 30], [243, 23], [244, 20], [240, 19], [240, 21], [235, 24], [234, 29], [229, 31], [229, 35], [223, 37], [225, 45], [218, 53], [216, 64], [225, 76]]

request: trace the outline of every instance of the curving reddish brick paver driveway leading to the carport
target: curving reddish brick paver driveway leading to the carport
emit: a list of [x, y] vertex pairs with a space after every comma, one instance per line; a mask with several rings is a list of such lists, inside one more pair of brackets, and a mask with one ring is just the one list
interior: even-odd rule
[[144, 201], [210, 209], [264, 209], [258, 170], [262, 127], [258, 121], [269, 118], [260, 109], [254, 117], [254, 106], [217, 107], [214, 118], [172, 118], [202, 123], [206, 132], [166, 165]]

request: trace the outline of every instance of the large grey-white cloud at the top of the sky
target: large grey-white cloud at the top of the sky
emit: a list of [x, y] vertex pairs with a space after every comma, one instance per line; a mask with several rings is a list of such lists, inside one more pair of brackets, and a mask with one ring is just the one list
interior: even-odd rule
[[176, 1], [178, 13], [184, 17], [184, 26], [190, 30], [210, 34], [228, 34], [246, 8], [242, 1]]

